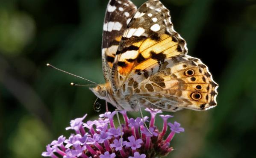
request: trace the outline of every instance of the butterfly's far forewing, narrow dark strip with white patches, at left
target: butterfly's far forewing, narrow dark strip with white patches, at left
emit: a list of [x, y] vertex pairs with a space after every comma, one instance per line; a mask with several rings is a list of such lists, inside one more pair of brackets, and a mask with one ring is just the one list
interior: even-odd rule
[[130, 0], [109, 0], [102, 39], [102, 66], [106, 82], [110, 80], [121, 35], [136, 11], [136, 6]]

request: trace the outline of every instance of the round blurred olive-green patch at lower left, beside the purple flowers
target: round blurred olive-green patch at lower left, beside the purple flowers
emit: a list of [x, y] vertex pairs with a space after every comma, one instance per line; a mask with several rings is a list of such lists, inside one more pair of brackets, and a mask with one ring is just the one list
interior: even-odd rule
[[40, 120], [24, 116], [10, 135], [7, 145], [12, 158], [27, 158], [28, 153], [25, 151], [30, 149], [30, 155], [38, 155], [45, 149], [45, 144], [51, 141], [50, 138], [50, 132]]

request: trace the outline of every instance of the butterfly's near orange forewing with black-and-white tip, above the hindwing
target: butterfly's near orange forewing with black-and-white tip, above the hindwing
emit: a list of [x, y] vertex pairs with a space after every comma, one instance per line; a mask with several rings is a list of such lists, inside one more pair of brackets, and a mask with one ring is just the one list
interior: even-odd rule
[[144, 3], [124, 31], [112, 69], [112, 88], [164, 59], [185, 55], [186, 43], [174, 31], [169, 10], [159, 0]]

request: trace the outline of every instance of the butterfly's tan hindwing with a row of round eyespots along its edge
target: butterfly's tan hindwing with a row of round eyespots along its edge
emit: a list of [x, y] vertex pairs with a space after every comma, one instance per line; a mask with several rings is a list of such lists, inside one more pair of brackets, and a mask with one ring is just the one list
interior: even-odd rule
[[141, 105], [149, 108], [207, 110], [217, 105], [218, 85], [208, 67], [191, 56], [165, 59], [147, 67], [141, 75], [135, 74], [124, 85], [124, 95], [133, 94]]

